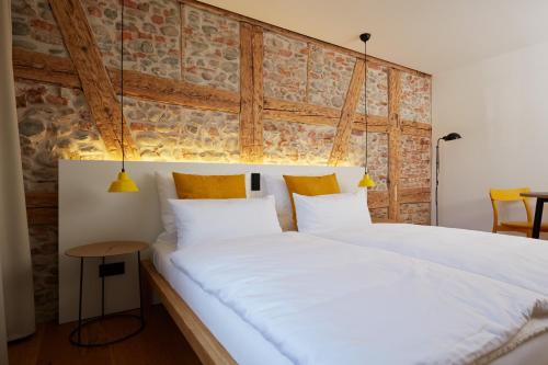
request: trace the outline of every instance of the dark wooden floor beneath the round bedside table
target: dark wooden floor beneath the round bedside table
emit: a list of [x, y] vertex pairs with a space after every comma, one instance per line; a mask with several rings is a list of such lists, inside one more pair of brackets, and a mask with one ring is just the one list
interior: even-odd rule
[[[135, 327], [128, 319], [112, 319], [82, 331], [83, 340], [104, 340]], [[194, 365], [199, 360], [162, 306], [153, 306], [145, 330], [110, 346], [84, 349], [70, 344], [75, 323], [41, 324], [36, 333], [9, 345], [10, 365]]]

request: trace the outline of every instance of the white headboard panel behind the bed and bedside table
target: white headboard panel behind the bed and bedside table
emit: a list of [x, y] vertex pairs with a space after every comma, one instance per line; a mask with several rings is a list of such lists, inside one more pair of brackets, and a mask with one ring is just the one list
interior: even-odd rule
[[[352, 192], [362, 178], [361, 168], [229, 164], [186, 162], [126, 162], [126, 170], [139, 186], [138, 193], [111, 194], [106, 190], [119, 171], [117, 161], [59, 161], [59, 322], [78, 318], [79, 260], [64, 252], [72, 247], [109, 240], [142, 240], [152, 243], [161, 232], [160, 207], [155, 172], [198, 174], [328, 174], [336, 173], [341, 190]], [[250, 186], [247, 179], [248, 190]], [[261, 179], [262, 195], [264, 180]], [[146, 256], [146, 254], [145, 254]], [[135, 258], [112, 259], [126, 262], [124, 275], [105, 281], [106, 312], [138, 307], [137, 262]], [[109, 262], [109, 261], [107, 261]], [[88, 260], [83, 281], [83, 317], [101, 309], [98, 261]]]

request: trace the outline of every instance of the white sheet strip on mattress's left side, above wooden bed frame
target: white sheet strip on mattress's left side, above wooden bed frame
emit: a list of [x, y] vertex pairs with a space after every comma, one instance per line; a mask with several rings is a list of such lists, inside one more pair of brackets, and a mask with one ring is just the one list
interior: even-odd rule
[[241, 365], [286, 365], [292, 362], [266, 341], [232, 309], [204, 292], [194, 281], [176, 269], [170, 255], [176, 250], [173, 237], [161, 235], [152, 246], [152, 260], [158, 272], [199, 317], [217, 340]]

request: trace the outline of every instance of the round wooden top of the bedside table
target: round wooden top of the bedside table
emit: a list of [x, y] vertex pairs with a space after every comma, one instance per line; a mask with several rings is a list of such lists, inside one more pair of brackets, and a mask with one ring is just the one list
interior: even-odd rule
[[148, 248], [141, 241], [107, 241], [73, 247], [65, 251], [71, 258], [107, 258], [118, 254], [135, 253]]

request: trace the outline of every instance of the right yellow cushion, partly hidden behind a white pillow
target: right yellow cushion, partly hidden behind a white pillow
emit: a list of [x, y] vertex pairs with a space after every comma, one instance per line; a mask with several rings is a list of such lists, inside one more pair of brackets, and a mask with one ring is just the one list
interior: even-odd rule
[[323, 176], [290, 176], [284, 175], [285, 184], [287, 185], [287, 191], [289, 192], [289, 199], [292, 201], [293, 210], [293, 223], [297, 227], [297, 215], [295, 213], [295, 202], [293, 201], [293, 193], [300, 195], [327, 195], [327, 194], [339, 194], [341, 189], [339, 187], [339, 182], [336, 181], [336, 175], [323, 175]]

